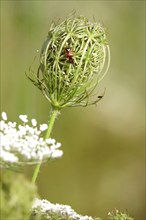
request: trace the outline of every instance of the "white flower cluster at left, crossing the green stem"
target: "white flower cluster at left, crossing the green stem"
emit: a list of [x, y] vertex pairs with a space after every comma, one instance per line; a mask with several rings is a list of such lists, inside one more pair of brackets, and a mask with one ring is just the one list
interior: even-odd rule
[[47, 124], [37, 127], [37, 121], [31, 120], [28, 125], [27, 115], [20, 115], [21, 124], [7, 122], [7, 115], [2, 113], [0, 121], [0, 165], [35, 164], [50, 158], [58, 158], [63, 151], [58, 148], [60, 143], [54, 139], [44, 139], [42, 132], [48, 128]]

